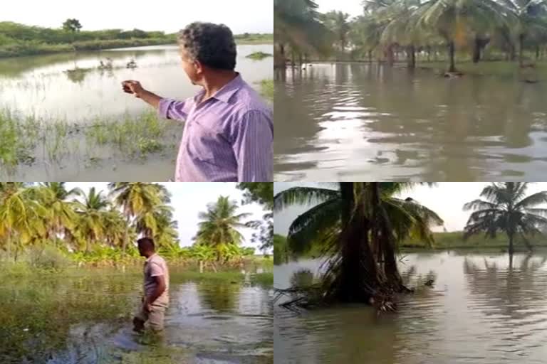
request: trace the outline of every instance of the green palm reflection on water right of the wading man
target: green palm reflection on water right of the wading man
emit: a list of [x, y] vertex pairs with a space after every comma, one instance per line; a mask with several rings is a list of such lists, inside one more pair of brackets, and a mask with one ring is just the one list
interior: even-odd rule
[[217, 312], [236, 311], [240, 291], [240, 284], [215, 284], [208, 282], [197, 284], [197, 292], [202, 306]]

